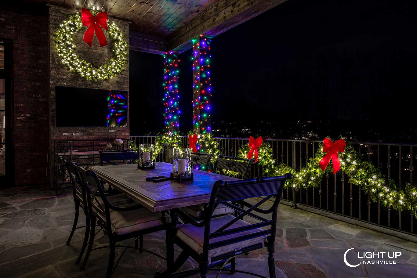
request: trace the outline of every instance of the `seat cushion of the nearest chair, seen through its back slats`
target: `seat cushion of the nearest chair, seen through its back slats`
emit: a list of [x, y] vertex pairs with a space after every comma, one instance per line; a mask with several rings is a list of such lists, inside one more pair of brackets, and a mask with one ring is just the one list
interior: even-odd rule
[[[235, 217], [233, 215], [230, 215], [230, 214], [219, 216], [219, 217], [216, 217], [216, 218], [212, 218], [211, 219], [211, 224], [210, 224], [210, 233], [214, 233], [216, 230], [221, 228], [226, 223], [229, 223], [234, 218]], [[244, 220], [238, 220], [238, 221], [236, 221], [236, 223], [233, 223], [233, 225], [226, 228], [226, 230], [233, 229], [233, 228], [238, 228], [238, 227], [246, 226], [246, 225], [250, 225], [250, 224], [247, 223]], [[243, 232], [240, 232], [240, 233], [234, 233], [234, 234], [231, 234], [231, 235], [224, 235], [224, 236], [221, 236], [221, 237], [218, 237], [218, 238], [212, 238], [210, 240], [210, 243], [215, 243], [215, 242], [230, 239], [230, 238], [236, 238], [236, 237], [241, 236], [241, 235], [247, 235], [247, 234], [256, 233], [256, 232], [259, 232], [259, 231], [262, 231], [262, 229], [257, 228], [257, 229], [253, 229], [253, 230], [249, 230], [249, 231], [243, 231]], [[188, 246], [190, 246], [193, 250], [195, 250], [198, 254], [203, 253], [204, 227], [199, 228], [199, 227], [196, 227], [192, 224], [178, 225], [178, 231], [177, 231], [176, 236], [181, 241], [183, 241]], [[241, 242], [238, 242], [238, 243], [233, 243], [233, 244], [230, 244], [230, 245], [221, 246], [221, 247], [217, 247], [217, 248], [213, 248], [211, 250], [208, 250], [209, 263], [211, 263], [211, 258], [212, 257], [216, 257], [218, 255], [228, 253], [228, 252], [232, 252], [232, 251], [237, 251], [241, 248], [248, 247], [248, 246], [251, 246], [251, 245], [261, 243], [262, 248], [263, 248], [266, 238], [267, 238], [267, 235], [263, 235], [261, 237], [251, 238], [251, 239], [247, 239], [247, 240], [244, 240], [244, 241], [241, 241]]]

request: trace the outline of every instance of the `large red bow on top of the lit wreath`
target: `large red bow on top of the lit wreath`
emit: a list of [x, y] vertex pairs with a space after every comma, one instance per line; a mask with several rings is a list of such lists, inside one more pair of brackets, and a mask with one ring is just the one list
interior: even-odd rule
[[[83, 40], [90, 45], [93, 43], [94, 31], [95, 35], [97, 36], [98, 43], [100, 43], [100, 47], [107, 45], [106, 36], [104, 35], [103, 29], [108, 30], [107, 26], [107, 12], [101, 12], [97, 15], [93, 15], [90, 13], [89, 10], [82, 8], [81, 9], [81, 21], [83, 22], [83, 26], [88, 26], [87, 30], [84, 33]], [[101, 29], [101, 27], [103, 29]]]

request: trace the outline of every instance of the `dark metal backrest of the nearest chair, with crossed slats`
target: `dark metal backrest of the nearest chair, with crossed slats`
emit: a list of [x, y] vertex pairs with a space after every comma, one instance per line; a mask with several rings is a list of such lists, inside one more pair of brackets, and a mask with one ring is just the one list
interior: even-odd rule
[[[284, 188], [284, 182], [287, 178], [292, 178], [291, 174], [285, 174], [279, 177], [271, 178], [253, 178], [247, 180], [237, 181], [222, 181], [218, 180], [211, 191], [210, 203], [208, 204], [207, 213], [205, 217], [205, 229], [203, 239], [203, 255], [208, 254], [208, 250], [218, 248], [225, 245], [238, 243], [251, 238], [259, 238], [268, 236], [268, 242], [273, 244], [276, 233], [276, 221], [277, 221], [277, 207], [281, 200], [282, 190]], [[255, 204], [249, 204], [244, 202], [244, 205], [248, 206], [246, 210], [242, 207], [234, 205], [233, 201], [263, 197]], [[260, 205], [265, 205], [271, 197], [275, 197], [271, 208], [268, 210], [260, 209]], [[232, 203], [231, 203], [232, 202]], [[224, 223], [220, 228], [215, 231], [211, 231], [210, 223], [211, 217], [216, 208], [216, 205], [222, 203], [231, 208], [235, 208], [239, 211], [235, 217], [228, 223]], [[256, 211], [258, 213], [269, 214], [272, 212], [272, 219], [268, 220], [258, 214], [252, 213]], [[233, 226], [238, 221], [242, 221], [244, 217], [251, 217], [257, 220], [258, 223], [246, 223], [246, 225], [239, 224], [238, 227]], [[242, 222], [239, 222], [242, 223]], [[260, 227], [269, 227], [260, 230]], [[242, 234], [242, 232], [244, 232]], [[221, 240], [222, 236], [226, 236]], [[210, 242], [211, 238], [219, 238], [215, 242]]]

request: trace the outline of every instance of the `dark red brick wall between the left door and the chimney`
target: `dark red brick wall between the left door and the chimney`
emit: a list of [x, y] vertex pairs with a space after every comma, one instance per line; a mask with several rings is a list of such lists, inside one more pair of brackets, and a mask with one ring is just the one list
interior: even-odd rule
[[0, 39], [13, 40], [15, 185], [45, 183], [49, 139], [47, 9], [28, 12], [1, 7]]

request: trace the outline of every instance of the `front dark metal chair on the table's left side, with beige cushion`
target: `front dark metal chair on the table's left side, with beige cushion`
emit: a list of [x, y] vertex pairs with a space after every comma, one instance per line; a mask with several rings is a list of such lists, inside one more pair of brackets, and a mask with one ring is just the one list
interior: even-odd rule
[[[113, 275], [114, 270], [128, 248], [139, 249], [140, 253], [145, 251], [165, 260], [161, 255], [143, 249], [143, 235], [166, 230], [166, 224], [170, 223], [171, 218], [165, 215], [165, 212], [153, 213], [138, 203], [111, 203], [110, 198], [104, 193], [103, 185], [100, 183], [97, 175], [92, 170], [85, 170], [83, 168], [78, 168], [78, 170], [88, 203], [88, 214], [90, 218], [90, 239], [80, 269], [85, 268], [85, 264], [92, 250], [105, 247], [109, 247], [110, 249], [106, 278], [110, 278]], [[96, 189], [93, 191], [92, 188]], [[108, 235], [108, 246], [93, 248], [96, 225]], [[116, 245], [116, 243], [128, 239], [133, 239], [128, 245]], [[135, 247], [131, 246], [133, 242], [135, 242]], [[116, 247], [124, 247], [125, 249], [115, 263]]]

